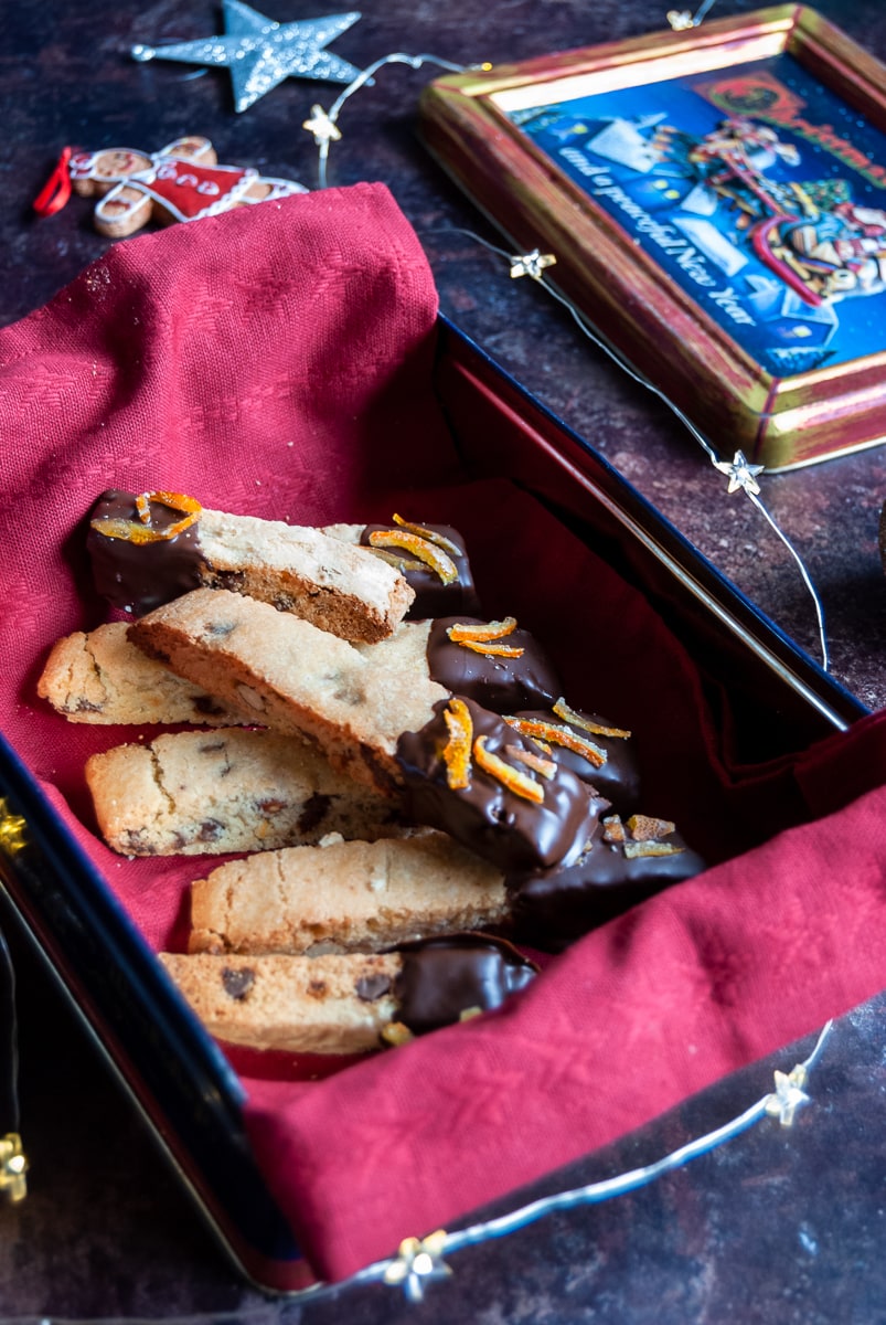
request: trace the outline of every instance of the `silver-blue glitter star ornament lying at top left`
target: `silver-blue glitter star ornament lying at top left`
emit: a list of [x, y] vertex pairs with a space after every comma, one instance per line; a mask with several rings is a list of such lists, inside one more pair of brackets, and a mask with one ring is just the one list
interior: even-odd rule
[[355, 65], [324, 49], [360, 17], [330, 13], [301, 23], [274, 23], [242, 0], [222, 0], [224, 34], [168, 46], [132, 46], [134, 60], [177, 60], [209, 69], [228, 69], [234, 110], [248, 110], [286, 78], [350, 83]]

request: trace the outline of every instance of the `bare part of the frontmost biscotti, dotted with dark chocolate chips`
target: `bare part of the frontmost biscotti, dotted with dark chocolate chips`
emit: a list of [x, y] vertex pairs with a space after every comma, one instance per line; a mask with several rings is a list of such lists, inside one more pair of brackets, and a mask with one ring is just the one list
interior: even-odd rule
[[401, 958], [217, 957], [162, 953], [163, 966], [211, 1035], [290, 1053], [360, 1053], [381, 1044], [396, 1015]]

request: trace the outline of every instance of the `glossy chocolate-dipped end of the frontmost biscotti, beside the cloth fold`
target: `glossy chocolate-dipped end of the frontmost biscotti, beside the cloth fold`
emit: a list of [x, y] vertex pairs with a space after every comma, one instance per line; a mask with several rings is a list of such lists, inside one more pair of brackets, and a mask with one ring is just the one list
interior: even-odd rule
[[464, 1012], [489, 1012], [526, 988], [538, 967], [511, 943], [485, 934], [453, 934], [401, 951], [393, 982], [397, 1018], [415, 1035], [458, 1022]]

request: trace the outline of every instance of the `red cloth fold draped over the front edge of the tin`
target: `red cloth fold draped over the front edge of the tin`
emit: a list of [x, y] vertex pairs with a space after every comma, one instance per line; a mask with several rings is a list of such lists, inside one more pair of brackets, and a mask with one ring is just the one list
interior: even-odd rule
[[885, 861], [881, 787], [589, 934], [493, 1016], [318, 1089], [249, 1081], [253, 1143], [320, 1272], [452, 1227], [875, 994]]

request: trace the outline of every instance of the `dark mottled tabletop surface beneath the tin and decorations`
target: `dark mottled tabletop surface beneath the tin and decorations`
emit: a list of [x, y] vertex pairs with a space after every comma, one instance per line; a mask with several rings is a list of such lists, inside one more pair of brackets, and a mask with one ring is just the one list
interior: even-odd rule
[[[270, 17], [332, 5], [279, 0]], [[662, 26], [646, 0], [367, 0], [335, 50], [358, 65], [393, 52], [457, 62], [523, 56]], [[727, 16], [755, 8], [720, 0]], [[886, 57], [881, 0], [818, 8]], [[205, 132], [220, 160], [315, 183], [315, 148], [299, 127], [334, 93], [289, 81], [244, 115], [222, 73], [135, 65], [134, 41], [220, 30], [211, 0], [110, 0], [7, 5], [0, 53], [5, 125], [0, 321], [37, 307], [107, 241], [90, 204], [34, 221], [32, 197], [65, 143], [158, 148]], [[572, 427], [593, 441], [720, 568], [814, 652], [812, 603], [789, 554], [750, 502], [727, 498], [695, 444], [577, 334], [566, 311], [454, 227], [497, 242], [415, 140], [415, 102], [432, 70], [384, 69], [346, 106], [330, 182], [385, 182], [422, 236], [444, 311]], [[886, 582], [877, 522], [886, 449], [765, 481], [764, 501], [821, 594], [834, 674], [860, 698], [886, 702]], [[204, 1231], [140, 1117], [16, 943], [23, 1002], [23, 1130], [30, 1194], [0, 1206], [0, 1312], [38, 1320], [203, 1314], [285, 1325], [396, 1321], [593, 1321], [600, 1325], [878, 1325], [886, 1321], [886, 998], [842, 1019], [816, 1072], [814, 1105], [793, 1129], [765, 1124], [656, 1186], [609, 1204], [548, 1216], [534, 1228], [453, 1257], [456, 1275], [421, 1308], [381, 1287], [313, 1304], [268, 1302]], [[788, 973], [785, 973], [788, 978]], [[682, 1109], [551, 1178], [532, 1195], [654, 1159], [739, 1113], [808, 1045], [722, 1081]], [[527, 1194], [528, 1195], [528, 1194]]]

